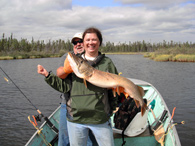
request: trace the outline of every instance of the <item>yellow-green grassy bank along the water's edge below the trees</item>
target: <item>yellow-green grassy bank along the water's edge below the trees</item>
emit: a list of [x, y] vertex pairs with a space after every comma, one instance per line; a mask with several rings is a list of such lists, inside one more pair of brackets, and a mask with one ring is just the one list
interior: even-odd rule
[[[59, 53], [52, 52], [12, 52], [11, 54], [1, 54], [0, 60], [10, 60], [10, 59], [34, 59], [34, 58], [52, 58], [61, 57], [64, 55], [65, 51], [60, 51]], [[104, 52], [103, 52], [104, 53]], [[174, 48], [161, 48], [155, 52], [106, 52], [105, 54], [142, 54], [146, 58], [150, 58], [154, 61], [173, 61], [173, 62], [195, 62], [195, 47], [174, 47]]]

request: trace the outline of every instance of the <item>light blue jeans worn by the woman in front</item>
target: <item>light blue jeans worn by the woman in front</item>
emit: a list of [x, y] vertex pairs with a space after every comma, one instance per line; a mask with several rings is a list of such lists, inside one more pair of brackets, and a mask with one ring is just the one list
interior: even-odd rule
[[113, 131], [110, 122], [103, 124], [78, 124], [67, 121], [71, 146], [86, 146], [89, 129], [94, 134], [98, 145], [114, 146]]

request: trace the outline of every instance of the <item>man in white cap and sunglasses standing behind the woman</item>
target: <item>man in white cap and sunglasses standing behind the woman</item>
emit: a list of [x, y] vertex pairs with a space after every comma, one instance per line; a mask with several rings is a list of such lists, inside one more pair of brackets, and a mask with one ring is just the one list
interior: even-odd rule
[[[73, 52], [74, 54], [82, 53], [84, 51], [83, 48], [83, 39], [82, 39], [82, 33], [76, 33], [71, 43], [73, 44]], [[67, 54], [64, 54], [61, 58], [60, 67], [57, 69], [56, 74], [58, 77], [65, 79], [69, 73], [72, 71], [68, 70], [68, 67], [66, 70], [64, 70], [64, 60], [66, 59]], [[69, 137], [68, 137], [68, 131], [67, 131], [67, 121], [66, 121], [66, 101], [69, 98], [69, 94], [64, 94], [61, 96], [62, 102], [61, 102], [61, 110], [60, 110], [60, 122], [59, 122], [59, 139], [58, 139], [58, 146], [69, 146]]]

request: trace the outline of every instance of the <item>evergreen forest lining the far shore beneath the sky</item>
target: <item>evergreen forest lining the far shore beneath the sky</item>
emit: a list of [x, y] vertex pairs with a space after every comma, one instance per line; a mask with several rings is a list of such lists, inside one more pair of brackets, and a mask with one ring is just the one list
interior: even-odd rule
[[[60, 57], [64, 53], [71, 51], [73, 45], [70, 40], [44, 40], [29, 41], [25, 38], [17, 40], [10, 37], [5, 37], [2, 34], [0, 38], [0, 59], [23, 59], [23, 58], [43, 58], [43, 57]], [[104, 42], [100, 47], [103, 53], [147, 53], [146, 57], [156, 56], [156, 54], [189, 54], [195, 55], [195, 43], [192, 42], [167, 42], [163, 40], [159, 43], [150, 43], [143, 41], [120, 43]], [[149, 53], [149, 54], [148, 54]], [[151, 54], [152, 53], [152, 54]], [[155, 55], [153, 54], [155, 53]]]

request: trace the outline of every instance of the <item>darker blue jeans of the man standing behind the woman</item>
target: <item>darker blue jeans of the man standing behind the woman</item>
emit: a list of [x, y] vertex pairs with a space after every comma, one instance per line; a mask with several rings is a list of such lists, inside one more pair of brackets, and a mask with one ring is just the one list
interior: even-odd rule
[[[66, 112], [67, 112], [66, 104], [61, 103], [58, 146], [70, 146]], [[94, 135], [91, 132], [89, 132], [89, 138], [87, 139], [87, 146], [97, 146], [97, 142], [94, 138]]]

